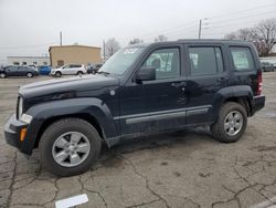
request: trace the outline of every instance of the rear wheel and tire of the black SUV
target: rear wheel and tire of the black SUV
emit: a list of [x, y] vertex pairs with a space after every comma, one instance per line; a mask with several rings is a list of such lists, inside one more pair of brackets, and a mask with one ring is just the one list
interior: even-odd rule
[[[237, 115], [240, 119], [236, 119], [236, 117], [238, 117]], [[233, 121], [233, 123], [231, 123], [232, 117], [234, 117], [236, 122]], [[213, 137], [222, 143], [234, 143], [242, 137], [246, 126], [247, 113], [245, 108], [238, 103], [227, 102], [221, 107], [217, 121], [211, 125], [211, 132]], [[234, 132], [231, 128], [233, 128]]]

